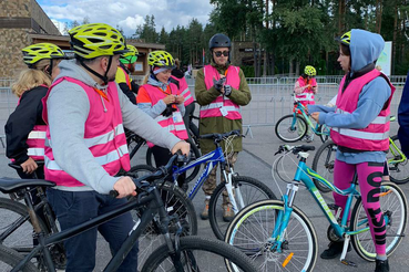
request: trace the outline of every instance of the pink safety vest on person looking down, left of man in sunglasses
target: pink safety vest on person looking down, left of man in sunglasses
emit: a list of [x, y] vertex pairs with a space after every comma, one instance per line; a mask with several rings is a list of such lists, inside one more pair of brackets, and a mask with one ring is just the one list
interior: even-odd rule
[[[177, 86], [173, 83], [168, 84], [172, 94], [181, 94]], [[157, 86], [152, 86], [150, 84], [142, 85], [146, 90], [147, 95], [151, 98], [152, 106], [155, 105], [157, 102], [166, 97], [166, 94]], [[175, 135], [180, 139], [187, 139], [187, 130], [185, 127], [185, 123], [183, 122], [183, 116], [178, 108], [176, 107], [176, 112], [168, 117], [160, 115], [155, 118], [155, 121], [162, 126], [167, 128], [170, 133]], [[154, 144], [147, 142], [149, 147], [153, 147]]]

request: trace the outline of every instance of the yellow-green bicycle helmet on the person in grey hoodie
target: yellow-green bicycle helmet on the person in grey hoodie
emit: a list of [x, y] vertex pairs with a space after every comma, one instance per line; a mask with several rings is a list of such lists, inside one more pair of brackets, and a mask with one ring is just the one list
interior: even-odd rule
[[106, 23], [82, 24], [70, 30], [69, 34], [71, 48], [83, 59], [129, 52], [121, 32]]

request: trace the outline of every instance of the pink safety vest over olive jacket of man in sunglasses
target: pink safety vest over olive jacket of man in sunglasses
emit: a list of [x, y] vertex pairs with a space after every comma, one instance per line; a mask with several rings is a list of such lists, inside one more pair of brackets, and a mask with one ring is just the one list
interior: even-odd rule
[[[239, 67], [229, 65], [227, 69], [225, 84], [238, 90], [241, 85], [241, 77], [238, 75], [238, 72]], [[213, 79], [215, 79], [216, 81], [221, 79], [218, 71], [212, 65], [205, 65], [203, 69], [203, 73], [207, 90], [213, 87]], [[223, 116], [222, 108], [224, 108], [224, 117], [226, 117], [227, 119], [242, 118], [239, 106], [231, 101], [227, 96], [223, 96], [222, 94], [217, 96], [216, 100], [214, 100], [211, 104], [201, 106], [201, 118]]]

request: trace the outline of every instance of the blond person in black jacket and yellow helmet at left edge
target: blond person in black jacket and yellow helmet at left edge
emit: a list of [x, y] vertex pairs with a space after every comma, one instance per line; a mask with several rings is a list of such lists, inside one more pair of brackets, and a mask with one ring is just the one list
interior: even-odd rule
[[12, 92], [19, 97], [16, 111], [7, 121], [6, 155], [19, 164], [21, 178], [44, 178], [43, 167], [35, 161], [44, 159], [45, 123], [42, 119], [42, 97], [51, 82], [59, 74], [58, 64], [64, 59], [62, 50], [51, 43], [38, 43], [21, 50], [29, 69], [20, 73], [12, 84]]

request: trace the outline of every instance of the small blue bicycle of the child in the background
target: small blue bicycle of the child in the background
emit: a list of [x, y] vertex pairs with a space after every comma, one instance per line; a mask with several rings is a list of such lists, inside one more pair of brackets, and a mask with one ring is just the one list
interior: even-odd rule
[[329, 128], [318, 123], [314, 125], [306, 112], [306, 107], [295, 98], [293, 114], [285, 115], [277, 121], [275, 127], [277, 137], [286, 143], [294, 143], [303, 139], [310, 128], [325, 143], [329, 138]]

